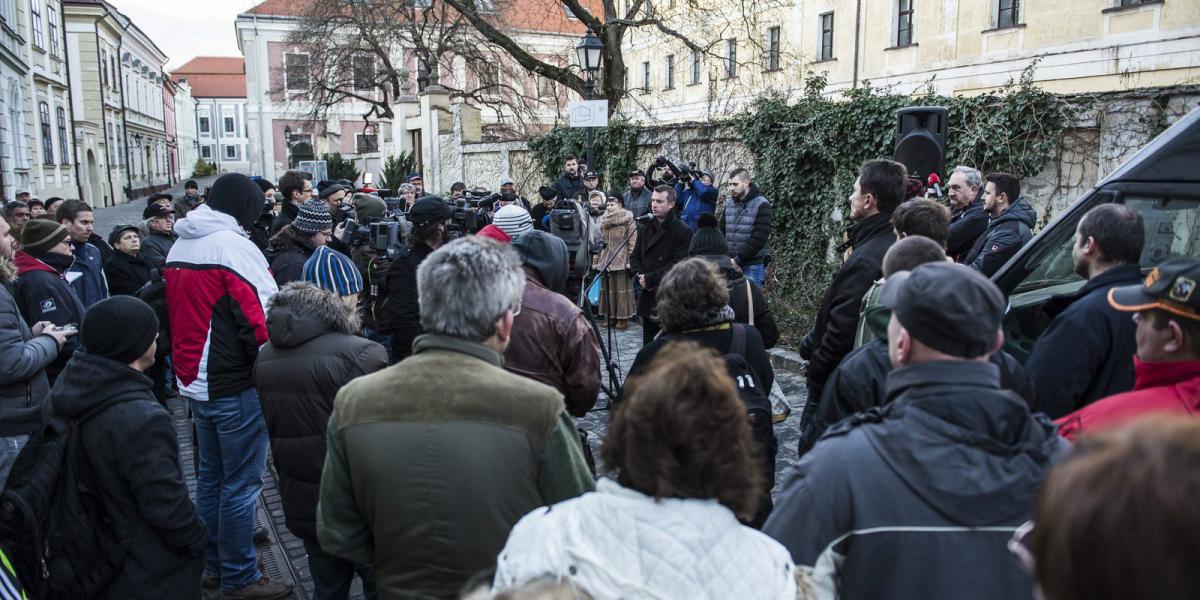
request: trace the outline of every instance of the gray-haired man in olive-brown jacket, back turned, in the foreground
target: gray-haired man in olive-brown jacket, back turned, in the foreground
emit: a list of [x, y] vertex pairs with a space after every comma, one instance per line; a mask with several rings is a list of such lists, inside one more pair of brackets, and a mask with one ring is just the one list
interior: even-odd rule
[[413, 355], [337, 394], [317, 535], [373, 564], [380, 598], [456, 595], [522, 516], [594, 488], [562, 394], [503, 368], [524, 282], [496, 241], [439, 247]]

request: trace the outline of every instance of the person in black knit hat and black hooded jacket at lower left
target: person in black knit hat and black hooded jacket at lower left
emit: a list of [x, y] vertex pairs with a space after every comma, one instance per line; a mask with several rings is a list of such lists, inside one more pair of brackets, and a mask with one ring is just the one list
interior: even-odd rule
[[84, 314], [77, 352], [50, 392], [54, 412], [74, 418], [112, 402], [79, 430], [104, 511], [128, 553], [100, 599], [198, 599], [208, 535], [179, 463], [170, 413], [150, 378], [158, 319], [131, 296], [102, 300]]

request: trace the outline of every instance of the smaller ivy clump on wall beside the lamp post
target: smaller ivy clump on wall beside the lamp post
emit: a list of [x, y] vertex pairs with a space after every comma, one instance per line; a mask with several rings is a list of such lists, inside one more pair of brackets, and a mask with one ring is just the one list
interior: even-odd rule
[[[578, 127], [557, 127], [529, 140], [529, 150], [541, 167], [547, 184], [563, 172], [564, 156], [575, 155], [581, 162], [586, 161], [587, 140], [587, 130]], [[588, 168], [600, 175], [602, 190], [617, 191], [608, 186], [628, 187], [625, 175], [637, 168], [637, 128], [625, 119], [611, 119], [607, 127], [598, 127], [592, 144], [592, 158], [595, 164]]]

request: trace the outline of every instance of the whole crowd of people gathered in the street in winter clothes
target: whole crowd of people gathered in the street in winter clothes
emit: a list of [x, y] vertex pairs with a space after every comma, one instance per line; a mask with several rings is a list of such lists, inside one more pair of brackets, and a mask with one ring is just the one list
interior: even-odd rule
[[[665, 157], [599, 179], [566, 156], [532, 204], [226, 174], [107, 238], [83, 202], [7, 203], [0, 598], [289, 596], [256, 546], [268, 454], [320, 599], [1194, 595], [1200, 259], [1144, 265], [1139, 212], [1082, 216], [1086, 281], [1015, 356], [989, 276], [1036, 226], [1018, 179], [958, 167], [942, 203], [863, 164], [776, 485], [772, 202]], [[643, 336], [599, 461], [595, 319]], [[12, 508], [62, 424], [122, 548], [98, 566]]]

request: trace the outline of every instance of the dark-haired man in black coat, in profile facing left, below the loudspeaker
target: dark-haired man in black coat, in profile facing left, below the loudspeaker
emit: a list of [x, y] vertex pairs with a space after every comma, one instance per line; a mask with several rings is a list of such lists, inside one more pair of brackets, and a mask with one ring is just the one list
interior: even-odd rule
[[800, 416], [800, 428], [810, 425], [816, 398], [826, 379], [842, 356], [854, 347], [854, 331], [863, 306], [863, 295], [883, 275], [883, 254], [896, 241], [892, 211], [904, 202], [908, 175], [895, 161], [869, 161], [858, 170], [854, 192], [850, 196], [850, 217], [854, 221], [848, 240], [839, 252], [850, 257], [833, 277], [821, 300], [812, 330], [800, 342], [800, 356], [809, 361], [809, 398]]

